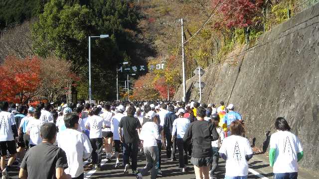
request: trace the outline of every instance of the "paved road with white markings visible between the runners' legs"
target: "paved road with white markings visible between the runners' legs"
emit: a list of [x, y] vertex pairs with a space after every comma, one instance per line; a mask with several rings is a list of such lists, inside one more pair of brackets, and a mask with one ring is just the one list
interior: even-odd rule
[[[178, 161], [171, 162], [166, 158], [164, 151], [162, 151], [162, 162], [161, 169], [163, 176], [159, 177], [161, 179], [195, 179], [194, 170], [191, 164], [188, 165], [188, 168], [185, 173], [180, 172], [178, 169]], [[177, 157], [177, 156], [176, 156]], [[103, 157], [104, 158], [104, 157]], [[254, 157], [249, 161], [249, 176], [248, 179], [273, 179], [272, 168], [269, 167], [269, 163], [267, 162], [268, 158], [264, 154], [254, 155]], [[123, 167], [119, 169], [114, 169], [114, 163], [105, 164], [105, 160], [102, 161], [102, 170], [103, 171], [95, 171], [88, 168], [86, 165], [85, 178], [86, 179], [121, 179], [125, 177], [125, 179], [136, 179], [134, 175], [132, 175], [132, 170], [129, 170], [128, 175], [123, 175]], [[122, 161], [120, 161], [122, 162]], [[145, 166], [145, 156], [143, 153], [139, 152], [138, 155], [138, 168], [143, 168]], [[218, 179], [223, 179], [225, 173], [225, 161], [220, 159], [219, 167], [217, 170]], [[18, 169], [15, 167], [12, 172], [9, 173], [11, 179], [18, 179]], [[319, 175], [314, 172], [310, 173], [306, 170], [300, 169], [298, 179], [319, 179]], [[145, 179], [149, 179], [149, 177], [144, 177]]]

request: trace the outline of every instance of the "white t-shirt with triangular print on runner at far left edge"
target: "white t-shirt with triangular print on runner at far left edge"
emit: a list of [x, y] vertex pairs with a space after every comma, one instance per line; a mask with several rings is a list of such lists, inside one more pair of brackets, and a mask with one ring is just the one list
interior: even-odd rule
[[11, 126], [15, 125], [14, 114], [6, 111], [0, 112], [0, 141], [12, 141], [13, 132]]

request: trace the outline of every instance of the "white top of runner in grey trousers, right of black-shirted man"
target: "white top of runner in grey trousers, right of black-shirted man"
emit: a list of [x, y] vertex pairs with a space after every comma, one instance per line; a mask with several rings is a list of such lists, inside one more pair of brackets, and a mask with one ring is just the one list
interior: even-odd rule
[[143, 140], [143, 147], [158, 146], [157, 139], [160, 139], [158, 125], [154, 122], [146, 122], [142, 126], [140, 139]]

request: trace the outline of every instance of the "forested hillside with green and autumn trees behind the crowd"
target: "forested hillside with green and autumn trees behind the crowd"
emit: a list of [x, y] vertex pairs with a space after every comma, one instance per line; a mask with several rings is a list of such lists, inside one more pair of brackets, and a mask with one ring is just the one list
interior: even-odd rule
[[[167, 98], [181, 83], [181, 23], [184, 22], [186, 79], [198, 66], [256, 39], [317, 0], [2, 0], [0, 61], [7, 56], [49, 57], [71, 63], [78, 77], [73, 96], [88, 98], [88, 36], [92, 91], [97, 100], [115, 99], [116, 69], [122, 62], [148, 65], [129, 77], [132, 99]], [[156, 64], [164, 69], [152, 70]], [[119, 73], [120, 97], [127, 97]], [[145, 87], [148, 86], [148, 87]], [[145, 87], [145, 88], [140, 88]], [[70, 94], [71, 95], [71, 94]], [[46, 97], [41, 97], [46, 98]]]

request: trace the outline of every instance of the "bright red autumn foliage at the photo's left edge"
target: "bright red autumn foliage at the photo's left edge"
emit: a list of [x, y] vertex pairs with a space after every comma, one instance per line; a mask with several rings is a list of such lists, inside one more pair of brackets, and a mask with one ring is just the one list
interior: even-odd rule
[[8, 56], [0, 66], [0, 100], [25, 103], [40, 82], [40, 59]]

